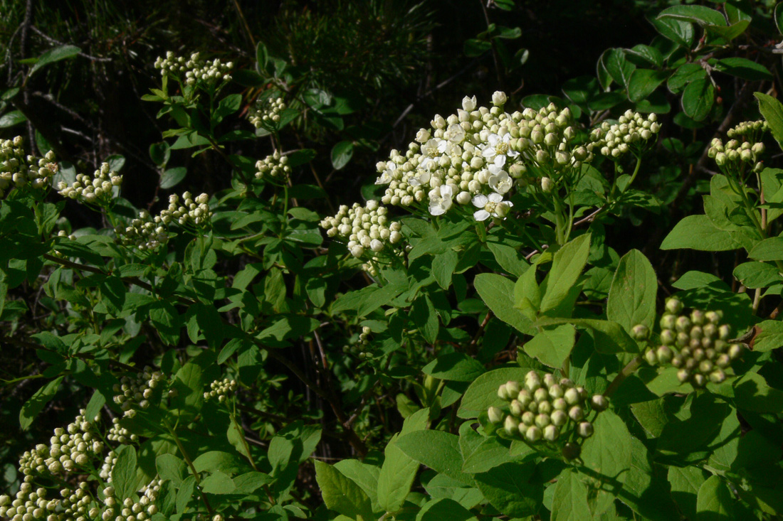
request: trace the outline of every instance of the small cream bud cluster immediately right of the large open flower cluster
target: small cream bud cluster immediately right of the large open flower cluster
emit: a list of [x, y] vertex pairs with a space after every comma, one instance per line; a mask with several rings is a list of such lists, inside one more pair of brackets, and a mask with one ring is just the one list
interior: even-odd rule
[[635, 146], [644, 146], [661, 130], [658, 117], [651, 113], [648, 117], [640, 113], [626, 110], [615, 124], [604, 121], [601, 127], [594, 128], [590, 133], [592, 142], [587, 144], [587, 150], [601, 151], [601, 155], [618, 158], [630, 152]]

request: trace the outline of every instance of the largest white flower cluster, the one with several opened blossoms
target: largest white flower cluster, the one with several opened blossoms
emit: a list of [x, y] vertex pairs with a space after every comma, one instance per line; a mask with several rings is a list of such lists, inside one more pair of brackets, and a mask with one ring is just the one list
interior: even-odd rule
[[377, 163], [377, 185], [388, 185], [384, 204], [410, 207], [425, 203], [431, 215], [471, 204], [474, 218], [505, 217], [515, 185], [527, 183], [528, 167], [548, 177], [578, 168], [589, 153], [572, 144], [576, 131], [571, 112], [554, 104], [541, 110], [507, 113], [503, 92], [493, 95], [493, 107], [476, 106], [475, 96], [462, 100], [462, 109], [431, 129], [422, 128], [403, 155], [392, 150]]

